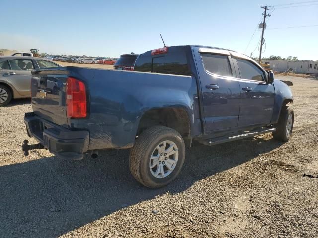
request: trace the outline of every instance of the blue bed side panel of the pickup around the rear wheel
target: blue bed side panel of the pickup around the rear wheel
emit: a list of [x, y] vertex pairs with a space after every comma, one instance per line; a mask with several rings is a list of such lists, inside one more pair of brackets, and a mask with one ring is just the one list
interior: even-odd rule
[[200, 133], [193, 77], [67, 68], [73, 77], [85, 80], [89, 91], [89, 118], [71, 119], [69, 125], [89, 130], [90, 150], [132, 147], [142, 115], [157, 108], [183, 108], [190, 119], [191, 134]]

